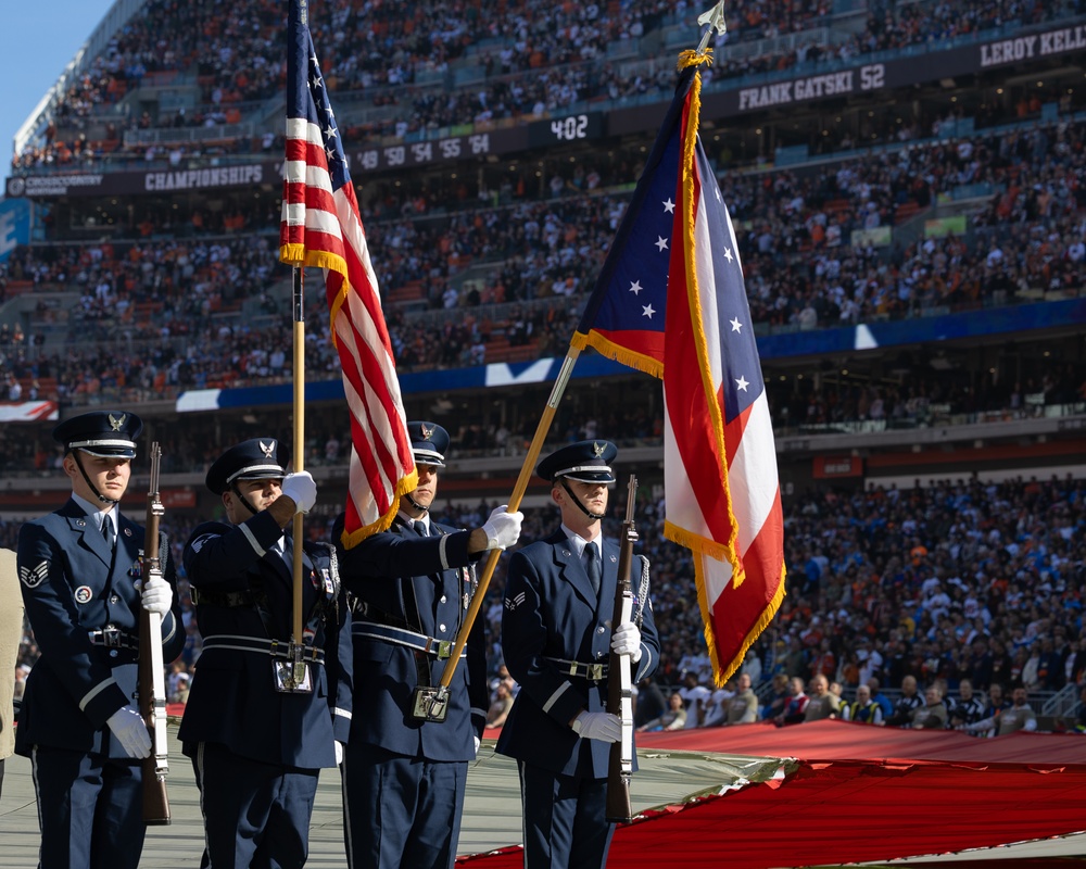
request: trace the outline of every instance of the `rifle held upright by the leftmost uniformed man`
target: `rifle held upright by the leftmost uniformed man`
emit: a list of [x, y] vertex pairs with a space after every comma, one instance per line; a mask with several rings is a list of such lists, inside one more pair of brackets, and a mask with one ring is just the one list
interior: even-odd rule
[[[162, 450], [151, 444], [151, 486], [147, 494], [147, 525], [143, 534], [141, 578], [144, 583], [162, 577], [159, 553], [159, 519], [166, 512], [159, 498], [159, 465]], [[162, 616], [139, 610], [139, 710], [151, 733], [151, 755], [143, 759], [143, 822], [169, 823], [166, 794], [166, 680], [162, 659]]]

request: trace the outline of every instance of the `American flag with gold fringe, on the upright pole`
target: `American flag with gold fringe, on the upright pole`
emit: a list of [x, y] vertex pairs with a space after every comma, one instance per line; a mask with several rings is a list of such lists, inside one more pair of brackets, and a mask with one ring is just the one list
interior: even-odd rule
[[291, 0], [287, 58], [287, 161], [279, 259], [319, 266], [351, 412], [351, 474], [343, 542], [392, 524], [418, 475], [377, 276], [343, 143], [328, 102], [306, 0]]

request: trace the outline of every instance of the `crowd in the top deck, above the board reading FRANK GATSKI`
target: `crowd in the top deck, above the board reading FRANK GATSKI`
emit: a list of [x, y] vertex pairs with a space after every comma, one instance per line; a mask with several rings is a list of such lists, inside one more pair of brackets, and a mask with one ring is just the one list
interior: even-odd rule
[[[357, 103], [379, 110], [348, 125], [352, 140], [399, 136], [472, 122], [487, 124], [522, 116], [546, 116], [578, 103], [626, 98], [667, 99], [673, 86], [670, 53], [639, 64], [611, 61], [609, 47], [633, 46], [698, 10], [685, 0], [653, 3], [552, 2], [546, 8], [498, 0], [444, 4], [404, 15], [395, 3], [359, 7], [336, 0], [314, 16], [315, 45], [325, 52], [324, 70], [338, 105]], [[971, 0], [868, 4], [862, 29], [841, 26], [833, 38], [828, 2], [806, 4], [761, 0], [725, 9], [728, 41], [718, 41], [712, 78], [727, 80], [766, 73], [817, 72], [832, 62], [871, 52], [915, 49], [938, 40], [970, 37], [1005, 25], [1027, 26], [1081, 14], [1082, 0]], [[265, 136], [226, 134], [212, 147], [176, 146], [165, 151], [139, 136], [125, 146], [124, 127], [146, 128], [238, 124], [247, 113], [260, 116], [281, 91], [286, 64], [276, 35], [282, 10], [269, 0], [247, 0], [218, 14], [206, 3], [157, 0], [134, 16], [103, 53], [68, 86], [40, 142], [14, 154], [14, 168], [85, 164], [109, 155], [154, 160], [167, 153], [199, 158], [266, 149]], [[841, 18], [850, 18], [846, 13]], [[178, 35], [167, 43], [163, 33]], [[797, 43], [775, 37], [807, 33]], [[729, 52], [728, 45], [769, 40], [760, 53]], [[361, 47], [361, 48], [359, 48]], [[454, 73], [470, 73], [463, 85]], [[200, 103], [152, 117], [118, 116], [110, 111], [149, 76], [168, 84], [195, 74]], [[105, 125], [105, 138], [90, 140], [88, 122]], [[168, 137], [167, 137], [168, 138]]]

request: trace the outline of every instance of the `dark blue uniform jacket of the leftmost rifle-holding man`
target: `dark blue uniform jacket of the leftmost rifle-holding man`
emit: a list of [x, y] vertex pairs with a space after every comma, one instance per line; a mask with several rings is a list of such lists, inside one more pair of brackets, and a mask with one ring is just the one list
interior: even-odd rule
[[[139, 652], [91, 642], [90, 632], [116, 628], [139, 632], [143, 528], [121, 514], [111, 552], [96, 520], [70, 500], [61, 509], [25, 522], [18, 534], [18, 572], [26, 615], [41, 657], [26, 679], [15, 748], [35, 745], [93, 752], [128, 759], [106, 719], [137, 704]], [[163, 659], [185, 644], [180, 605], [168, 547], [160, 541], [163, 577], [174, 603], [162, 618]], [[111, 567], [112, 561], [112, 567]]]

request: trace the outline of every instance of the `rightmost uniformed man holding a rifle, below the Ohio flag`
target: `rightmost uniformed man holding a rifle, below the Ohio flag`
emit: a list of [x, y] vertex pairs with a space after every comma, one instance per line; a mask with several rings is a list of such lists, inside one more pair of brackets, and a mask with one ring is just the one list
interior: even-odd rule
[[660, 659], [643, 557], [632, 565], [633, 619], [611, 630], [619, 544], [602, 537], [601, 520], [617, 454], [607, 441], [582, 441], [540, 462], [561, 527], [509, 561], [502, 650], [520, 693], [497, 752], [520, 769], [528, 869], [606, 864], [607, 761], [621, 738], [606, 711], [608, 658], [630, 656], [633, 684]]

